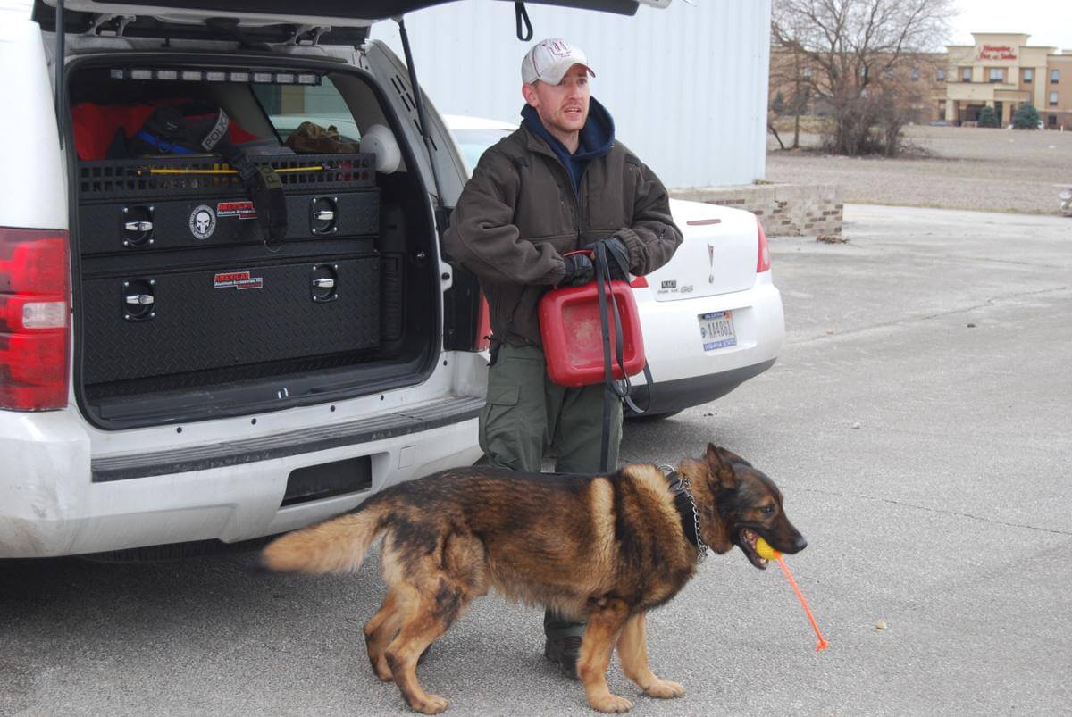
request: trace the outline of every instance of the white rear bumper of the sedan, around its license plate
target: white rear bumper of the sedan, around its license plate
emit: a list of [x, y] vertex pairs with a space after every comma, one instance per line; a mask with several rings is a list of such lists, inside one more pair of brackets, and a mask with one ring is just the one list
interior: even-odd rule
[[[759, 274], [751, 288], [712, 297], [656, 301], [651, 292], [636, 293], [644, 337], [644, 355], [652, 371], [652, 414], [664, 414], [714, 401], [771, 365], [781, 353], [786, 324], [781, 295], [771, 272]], [[698, 317], [717, 311], [733, 313], [736, 345], [704, 350]], [[631, 378], [634, 395], [643, 407], [645, 378]]]

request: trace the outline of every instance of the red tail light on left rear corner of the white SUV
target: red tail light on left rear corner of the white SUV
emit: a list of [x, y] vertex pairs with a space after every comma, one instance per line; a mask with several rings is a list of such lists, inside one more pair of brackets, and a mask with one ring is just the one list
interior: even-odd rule
[[68, 404], [68, 248], [65, 231], [0, 228], [0, 409]]

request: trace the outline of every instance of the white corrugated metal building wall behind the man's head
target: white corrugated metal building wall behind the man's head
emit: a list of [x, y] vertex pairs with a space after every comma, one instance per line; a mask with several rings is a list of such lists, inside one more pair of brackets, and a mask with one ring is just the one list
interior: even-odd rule
[[[667, 186], [762, 179], [771, 0], [674, 0], [634, 17], [528, 5], [533, 41], [581, 46], [592, 93], [614, 116], [617, 138]], [[461, 0], [412, 13], [406, 29], [417, 77], [443, 113], [519, 121], [521, 58], [513, 3]], [[398, 26], [372, 36], [400, 58]]]

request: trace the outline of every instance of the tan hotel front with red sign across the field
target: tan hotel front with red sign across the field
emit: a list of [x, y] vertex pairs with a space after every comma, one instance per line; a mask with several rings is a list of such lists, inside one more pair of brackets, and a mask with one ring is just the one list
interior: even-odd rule
[[1072, 129], [1072, 50], [1028, 45], [1030, 35], [973, 32], [974, 45], [949, 45], [944, 92], [937, 115], [953, 124], [976, 122], [992, 107], [1002, 126], [1030, 102], [1048, 128]]

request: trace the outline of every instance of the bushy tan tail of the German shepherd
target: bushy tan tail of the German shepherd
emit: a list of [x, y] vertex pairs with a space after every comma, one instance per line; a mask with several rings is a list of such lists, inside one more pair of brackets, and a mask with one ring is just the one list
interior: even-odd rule
[[287, 533], [260, 553], [260, 565], [280, 572], [353, 572], [376, 536], [387, 528], [390, 507], [373, 498], [357, 512]]

